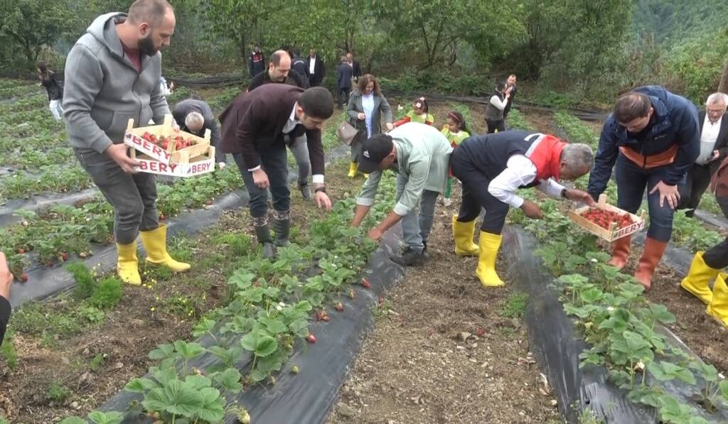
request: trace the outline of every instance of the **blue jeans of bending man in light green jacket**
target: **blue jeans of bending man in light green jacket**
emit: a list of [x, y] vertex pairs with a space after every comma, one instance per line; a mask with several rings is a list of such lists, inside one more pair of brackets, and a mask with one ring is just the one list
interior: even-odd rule
[[[397, 174], [397, 201], [404, 193], [406, 184], [407, 177]], [[430, 237], [438, 196], [440, 196], [438, 191], [422, 191], [422, 197], [419, 199], [419, 210], [415, 207], [402, 217], [403, 239], [407, 247], [415, 252], [422, 252], [424, 244], [427, 243], [427, 239]]]

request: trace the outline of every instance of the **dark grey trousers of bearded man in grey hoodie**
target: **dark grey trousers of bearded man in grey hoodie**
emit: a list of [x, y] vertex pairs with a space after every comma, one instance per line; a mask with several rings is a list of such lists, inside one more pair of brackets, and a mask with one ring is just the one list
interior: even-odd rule
[[74, 153], [106, 201], [114, 207], [117, 243], [133, 243], [139, 231], [159, 226], [154, 174], [127, 174], [114, 159], [90, 148], [74, 148]]

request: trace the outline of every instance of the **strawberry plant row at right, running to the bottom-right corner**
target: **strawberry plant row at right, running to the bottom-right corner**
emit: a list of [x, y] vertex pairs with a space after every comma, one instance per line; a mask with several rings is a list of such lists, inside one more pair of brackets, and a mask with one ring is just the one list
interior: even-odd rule
[[577, 319], [577, 328], [590, 344], [579, 367], [604, 366], [609, 380], [628, 391], [632, 401], [654, 407], [664, 423], [708, 423], [695, 410], [665, 393], [660, 383], [680, 381], [690, 387], [693, 399], [708, 415], [728, 407], [728, 381], [710, 364], [694, 359], [668, 343], [658, 324], [673, 324], [675, 317], [664, 305], [650, 303], [644, 287], [606, 264], [596, 237], [573, 231], [573, 223], [559, 210], [559, 202], [539, 201], [544, 220], [524, 220], [515, 211], [512, 222], [533, 233], [541, 247], [534, 253], [556, 278], [564, 311]]

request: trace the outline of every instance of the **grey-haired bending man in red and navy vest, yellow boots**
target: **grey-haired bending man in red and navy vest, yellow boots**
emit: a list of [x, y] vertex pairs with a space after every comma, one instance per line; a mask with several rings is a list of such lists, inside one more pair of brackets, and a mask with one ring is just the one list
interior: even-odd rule
[[[502, 286], [495, 264], [501, 232], [511, 206], [523, 209], [527, 217], [539, 219], [541, 209], [518, 196], [518, 188], [536, 187], [554, 197], [596, 206], [585, 191], [565, 188], [558, 180], [576, 180], [594, 164], [588, 145], [565, 143], [553, 135], [506, 131], [469, 137], [456, 148], [450, 169], [462, 181], [462, 204], [453, 217], [455, 253], [478, 255], [475, 275], [485, 287]], [[473, 242], [475, 219], [486, 209], [480, 225], [480, 245]]]

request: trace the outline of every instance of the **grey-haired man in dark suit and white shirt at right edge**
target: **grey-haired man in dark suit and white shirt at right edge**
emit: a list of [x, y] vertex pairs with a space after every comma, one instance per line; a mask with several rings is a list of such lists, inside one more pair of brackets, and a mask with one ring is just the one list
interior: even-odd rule
[[705, 111], [697, 115], [700, 124], [700, 155], [687, 172], [685, 193], [681, 193], [678, 209], [688, 209], [685, 216], [692, 217], [700, 205], [700, 198], [711, 183], [711, 177], [728, 157], [728, 95], [713, 93], [705, 101]]

